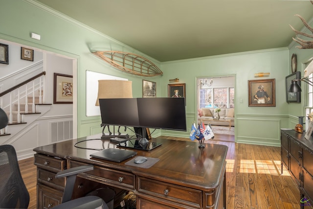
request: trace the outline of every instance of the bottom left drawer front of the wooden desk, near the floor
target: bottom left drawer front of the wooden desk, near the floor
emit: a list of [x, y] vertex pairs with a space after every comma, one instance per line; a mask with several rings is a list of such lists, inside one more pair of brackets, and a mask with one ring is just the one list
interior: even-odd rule
[[62, 203], [63, 191], [58, 191], [42, 184], [37, 185], [38, 209], [51, 209]]

